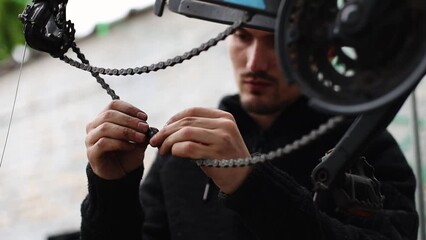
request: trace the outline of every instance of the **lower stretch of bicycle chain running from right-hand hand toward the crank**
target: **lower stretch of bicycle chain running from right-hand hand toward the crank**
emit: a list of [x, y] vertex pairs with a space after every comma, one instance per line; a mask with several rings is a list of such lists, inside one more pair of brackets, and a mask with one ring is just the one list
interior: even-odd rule
[[295, 150], [300, 149], [303, 146], [308, 145], [312, 141], [318, 139], [320, 136], [327, 133], [329, 130], [335, 128], [338, 123], [343, 121], [342, 116], [336, 116], [330, 118], [324, 124], [321, 124], [317, 129], [312, 130], [310, 133], [303, 135], [300, 139], [295, 140], [292, 143], [285, 145], [282, 148], [278, 148], [274, 151], [270, 151], [266, 154], [253, 154], [247, 158], [239, 159], [199, 159], [195, 163], [200, 167], [215, 167], [215, 168], [227, 168], [227, 167], [244, 167], [254, 165], [256, 163], [270, 161], [275, 158], [288, 155]]

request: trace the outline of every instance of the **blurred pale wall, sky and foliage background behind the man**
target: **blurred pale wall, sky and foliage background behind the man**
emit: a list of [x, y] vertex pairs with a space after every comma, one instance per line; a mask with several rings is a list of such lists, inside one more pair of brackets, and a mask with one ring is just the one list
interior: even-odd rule
[[[67, 18], [75, 23], [77, 44], [92, 65], [150, 65], [199, 46], [226, 28], [167, 11], [159, 18], [152, 13], [153, 2], [68, 2]], [[85, 125], [111, 100], [87, 72], [30, 49], [23, 59], [22, 24], [17, 15], [26, 3], [0, 0], [0, 147], [3, 150], [6, 146], [0, 167], [2, 240], [44, 240], [78, 230], [80, 203], [87, 193]], [[122, 100], [145, 110], [148, 122], [155, 127], [163, 126], [170, 116], [187, 107], [216, 107], [221, 97], [236, 92], [225, 42], [173, 68], [132, 77], [107, 76], [105, 80]], [[417, 119], [413, 117], [413, 99], [407, 100], [389, 130], [421, 183], [417, 203], [423, 211], [424, 83], [416, 91]], [[420, 141], [416, 141], [417, 134]], [[149, 148], [148, 169], [154, 154], [155, 150]]]

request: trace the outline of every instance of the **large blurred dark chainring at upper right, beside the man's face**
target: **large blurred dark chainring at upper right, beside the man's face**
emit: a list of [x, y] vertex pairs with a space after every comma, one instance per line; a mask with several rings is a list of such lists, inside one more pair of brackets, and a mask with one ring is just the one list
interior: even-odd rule
[[287, 0], [276, 44], [289, 82], [312, 105], [358, 114], [412, 91], [426, 73], [421, 0]]

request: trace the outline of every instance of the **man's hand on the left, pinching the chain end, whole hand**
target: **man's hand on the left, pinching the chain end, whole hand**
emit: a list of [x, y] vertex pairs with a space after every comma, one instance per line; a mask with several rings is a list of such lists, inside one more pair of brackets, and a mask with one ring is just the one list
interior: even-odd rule
[[96, 175], [119, 179], [143, 164], [149, 141], [146, 120], [140, 109], [114, 100], [87, 124], [87, 157]]

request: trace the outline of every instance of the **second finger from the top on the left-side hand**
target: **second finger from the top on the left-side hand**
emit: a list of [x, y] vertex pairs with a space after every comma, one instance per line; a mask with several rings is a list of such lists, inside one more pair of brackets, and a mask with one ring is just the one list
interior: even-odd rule
[[148, 124], [140, 118], [130, 116], [117, 110], [106, 110], [100, 113], [98, 117], [86, 126], [86, 133], [89, 133], [91, 130], [104, 123], [113, 123], [143, 133], [145, 133], [149, 128]]

